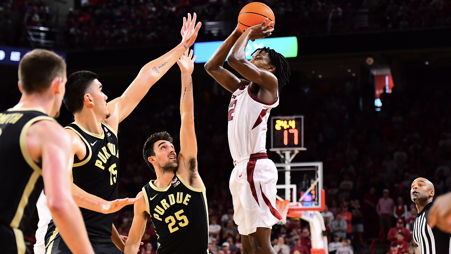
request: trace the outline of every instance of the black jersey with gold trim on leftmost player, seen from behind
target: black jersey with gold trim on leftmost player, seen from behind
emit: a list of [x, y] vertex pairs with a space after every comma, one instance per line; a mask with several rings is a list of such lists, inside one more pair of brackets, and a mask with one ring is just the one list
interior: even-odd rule
[[28, 128], [40, 120], [56, 122], [33, 108], [0, 113], [0, 249], [6, 253], [11, 248], [17, 248], [15, 253], [25, 252], [22, 231], [44, 188], [41, 165], [32, 160], [26, 145]]

